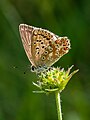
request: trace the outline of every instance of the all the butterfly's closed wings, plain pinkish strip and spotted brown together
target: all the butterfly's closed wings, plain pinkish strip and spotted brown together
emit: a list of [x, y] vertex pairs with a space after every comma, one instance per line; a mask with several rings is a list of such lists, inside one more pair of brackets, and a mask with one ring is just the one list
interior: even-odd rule
[[26, 24], [20, 24], [19, 31], [26, 55], [37, 70], [52, 66], [69, 52], [70, 40], [67, 37]]

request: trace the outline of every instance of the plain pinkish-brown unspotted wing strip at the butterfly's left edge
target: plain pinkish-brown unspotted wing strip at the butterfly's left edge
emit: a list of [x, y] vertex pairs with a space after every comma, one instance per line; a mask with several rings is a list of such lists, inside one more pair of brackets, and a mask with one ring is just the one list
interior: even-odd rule
[[19, 31], [26, 55], [30, 60], [31, 64], [35, 66], [31, 53], [31, 36], [32, 36], [33, 27], [28, 26], [26, 24], [20, 24]]

